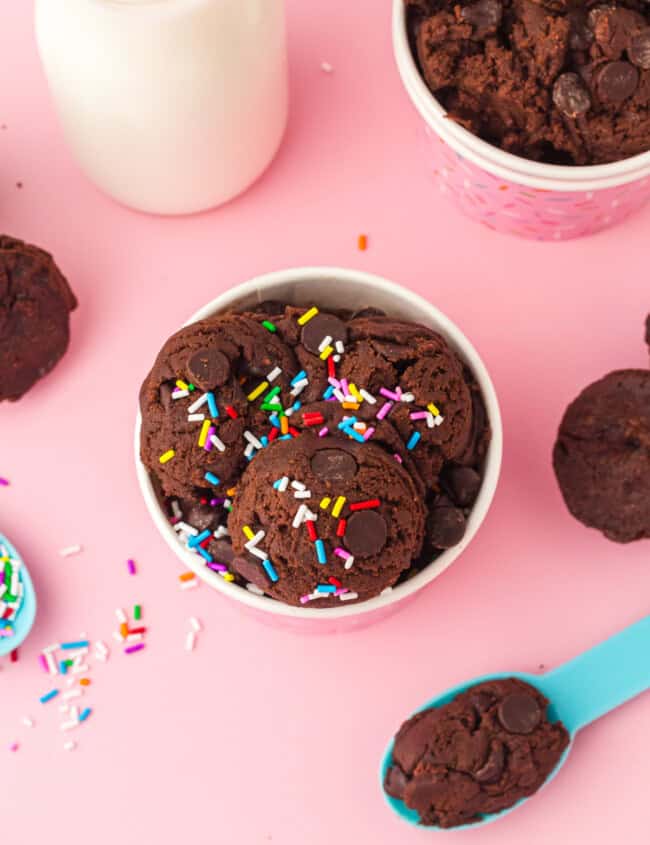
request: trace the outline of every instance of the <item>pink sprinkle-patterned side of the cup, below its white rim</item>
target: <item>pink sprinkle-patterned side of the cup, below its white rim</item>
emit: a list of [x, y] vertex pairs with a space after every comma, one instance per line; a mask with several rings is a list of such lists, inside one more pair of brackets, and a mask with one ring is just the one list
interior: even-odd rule
[[597, 191], [529, 188], [488, 173], [426, 127], [440, 192], [489, 229], [538, 241], [580, 238], [620, 223], [650, 199], [648, 179]]

